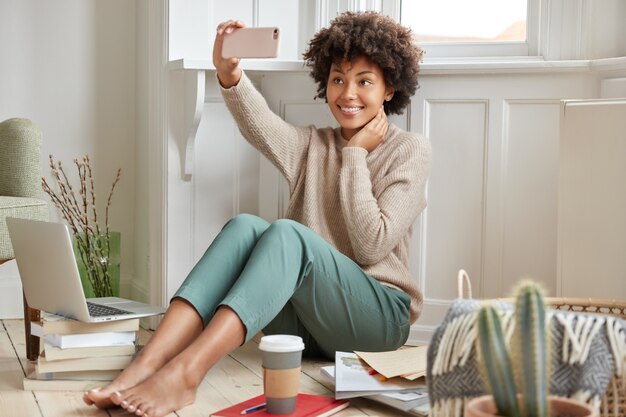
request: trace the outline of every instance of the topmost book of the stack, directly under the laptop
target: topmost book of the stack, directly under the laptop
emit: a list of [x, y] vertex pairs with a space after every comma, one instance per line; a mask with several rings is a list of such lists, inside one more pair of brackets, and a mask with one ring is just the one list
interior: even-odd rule
[[[85, 323], [56, 314], [42, 313], [41, 320], [31, 323], [31, 332], [36, 336], [46, 334], [81, 334], [108, 332], [135, 332], [139, 330], [139, 319], [114, 320], [100, 323]], [[40, 337], [41, 337], [40, 336]]]

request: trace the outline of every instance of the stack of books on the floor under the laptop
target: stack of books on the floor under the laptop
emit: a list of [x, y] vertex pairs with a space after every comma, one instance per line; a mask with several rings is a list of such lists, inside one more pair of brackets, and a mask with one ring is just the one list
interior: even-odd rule
[[139, 319], [84, 323], [44, 314], [31, 324], [43, 351], [24, 378], [33, 391], [86, 391], [107, 385], [132, 361]]

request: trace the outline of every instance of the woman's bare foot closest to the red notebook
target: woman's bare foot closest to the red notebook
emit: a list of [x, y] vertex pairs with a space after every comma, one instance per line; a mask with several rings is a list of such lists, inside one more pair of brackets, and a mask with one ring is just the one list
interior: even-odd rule
[[197, 384], [181, 361], [172, 361], [132, 388], [115, 392], [111, 400], [138, 416], [163, 417], [196, 400]]

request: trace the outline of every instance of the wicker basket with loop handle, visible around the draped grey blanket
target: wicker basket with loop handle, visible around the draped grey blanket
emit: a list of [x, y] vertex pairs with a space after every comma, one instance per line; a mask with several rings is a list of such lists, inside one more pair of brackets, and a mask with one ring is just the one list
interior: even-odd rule
[[[459, 271], [458, 292], [459, 298], [472, 298], [469, 276], [463, 270]], [[513, 301], [512, 299], [503, 300]], [[626, 320], [626, 301], [548, 297], [545, 298], [545, 302], [555, 310], [608, 314]], [[604, 398], [602, 398], [600, 417], [626, 417], [626, 381], [623, 378], [613, 377]]]

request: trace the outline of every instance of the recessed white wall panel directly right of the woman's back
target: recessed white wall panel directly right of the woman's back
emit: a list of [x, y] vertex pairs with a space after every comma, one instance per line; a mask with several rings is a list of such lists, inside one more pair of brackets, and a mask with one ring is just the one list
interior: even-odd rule
[[425, 134], [433, 147], [428, 182], [426, 259], [419, 271], [427, 299], [449, 300], [456, 273], [483, 270], [487, 100], [427, 100]]

